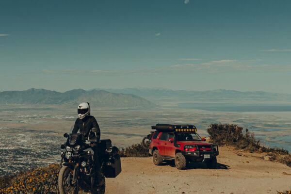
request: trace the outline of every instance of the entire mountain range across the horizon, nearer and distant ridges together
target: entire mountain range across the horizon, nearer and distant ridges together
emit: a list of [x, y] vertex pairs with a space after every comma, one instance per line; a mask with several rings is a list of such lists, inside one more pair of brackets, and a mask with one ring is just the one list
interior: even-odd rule
[[31, 88], [25, 91], [0, 92], [0, 103], [6, 104], [72, 104], [90, 102], [97, 107], [155, 107], [167, 102], [255, 102], [291, 103], [291, 94], [240, 92], [235, 90], [186, 91], [167, 89], [75, 89], [56, 92]]

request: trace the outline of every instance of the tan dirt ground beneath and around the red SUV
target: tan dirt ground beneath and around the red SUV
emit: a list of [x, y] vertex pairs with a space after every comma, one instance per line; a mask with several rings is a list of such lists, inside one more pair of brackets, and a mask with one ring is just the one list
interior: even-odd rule
[[106, 194], [276, 194], [291, 189], [291, 168], [262, 160], [264, 154], [220, 148], [218, 168], [202, 163], [178, 170], [152, 158], [123, 158], [122, 172], [106, 179]]

